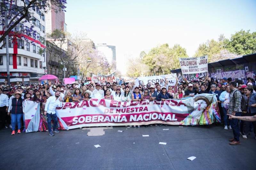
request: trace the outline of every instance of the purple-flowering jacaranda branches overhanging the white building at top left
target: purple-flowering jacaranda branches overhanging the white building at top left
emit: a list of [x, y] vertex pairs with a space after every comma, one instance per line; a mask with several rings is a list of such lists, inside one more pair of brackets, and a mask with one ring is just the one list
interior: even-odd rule
[[[9, 35], [9, 41], [12, 35], [36, 36], [33, 29], [33, 13], [41, 14], [47, 10], [65, 11], [66, 0], [0, 0], [0, 25], [2, 26], [0, 43], [4, 42], [5, 37]], [[7, 29], [5, 26], [5, 15], [7, 16]], [[26, 37], [21, 36], [22, 39]], [[32, 42], [33, 43], [33, 42]], [[0, 48], [3, 48], [5, 42]]]

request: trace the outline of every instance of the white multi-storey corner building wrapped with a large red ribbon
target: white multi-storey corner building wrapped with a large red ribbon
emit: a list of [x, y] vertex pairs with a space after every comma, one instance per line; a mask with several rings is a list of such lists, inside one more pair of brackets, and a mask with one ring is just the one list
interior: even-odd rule
[[[22, 1], [18, 1], [18, 3], [24, 5]], [[37, 9], [37, 7], [31, 10], [34, 11], [34, 14], [30, 23], [18, 24], [12, 31], [18, 32], [23, 29], [23, 26], [30, 27], [30, 24], [34, 24], [36, 35], [31, 38], [37, 40], [37, 42], [40, 41], [40, 43], [32, 43], [17, 37], [17, 69], [15, 69], [13, 68], [14, 43], [12, 40], [9, 40], [9, 63], [6, 62], [6, 45], [0, 49], [0, 82], [7, 81], [7, 64], [9, 64], [11, 83], [38, 83], [38, 79], [46, 72], [45, 50], [42, 48], [42, 46], [45, 46], [45, 14], [42, 10]], [[0, 31], [3, 31], [3, 26], [0, 26]], [[3, 43], [5, 42], [2, 42], [0, 46]]]

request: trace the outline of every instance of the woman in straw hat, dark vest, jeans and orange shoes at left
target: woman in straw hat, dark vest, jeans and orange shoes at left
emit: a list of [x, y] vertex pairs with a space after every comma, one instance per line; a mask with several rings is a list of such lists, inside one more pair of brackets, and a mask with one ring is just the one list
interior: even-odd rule
[[21, 117], [23, 114], [22, 109], [23, 100], [21, 99], [21, 93], [19, 91], [15, 92], [15, 97], [12, 98], [11, 105], [8, 108], [8, 115], [11, 113], [11, 123], [12, 123], [12, 135], [15, 135], [15, 127], [18, 124], [18, 134], [21, 129]]

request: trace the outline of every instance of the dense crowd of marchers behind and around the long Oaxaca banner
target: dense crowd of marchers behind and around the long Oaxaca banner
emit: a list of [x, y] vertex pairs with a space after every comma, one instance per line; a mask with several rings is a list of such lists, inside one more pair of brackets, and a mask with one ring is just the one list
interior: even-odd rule
[[[247, 121], [249, 120], [248, 116], [256, 114], [255, 80], [248, 78], [247, 81], [244, 84], [241, 80], [232, 81], [232, 78], [225, 77], [218, 81], [207, 76], [193, 81], [188, 81], [185, 78], [179, 81], [176, 78], [174, 86], [169, 85], [166, 78], [165, 81], [162, 79], [159, 83], [148, 83], [146, 85], [143, 83], [139, 86], [135, 86], [133, 82], [113, 82], [112, 84], [107, 82], [100, 84], [93, 81], [90, 83], [73, 82], [71, 85], [52, 84], [51, 81], [45, 81], [44, 84], [30, 85], [20, 85], [17, 82], [11, 86], [4, 83], [0, 85], [0, 128], [10, 127], [12, 135], [15, 134], [16, 126], [18, 134], [21, 133], [22, 127], [23, 131], [25, 131], [25, 100], [40, 103], [41, 124], [39, 130], [48, 130], [50, 136], [54, 136], [52, 132], [59, 132], [55, 108], [61, 102], [80, 102], [91, 98], [116, 101], [164, 101], [209, 93], [215, 95], [218, 100], [224, 129], [233, 130], [234, 138], [230, 139], [230, 144], [236, 145], [240, 144], [239, 135], [247, 139], [252, 129], [256, 134], [256, 128], [254, 128], [256, 122]], [[238, 119], [241, 121], [238, 121]], [[154, 126], [158, 125], [154, 124]], [[162, 124], [159, 124], [159, 126], [162, 126]], [[137, 127], [140, 128], [140, 126]]]

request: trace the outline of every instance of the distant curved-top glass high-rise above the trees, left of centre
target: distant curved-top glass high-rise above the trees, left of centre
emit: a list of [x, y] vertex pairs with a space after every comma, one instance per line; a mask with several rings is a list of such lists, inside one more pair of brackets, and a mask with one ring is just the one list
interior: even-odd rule
[[116, 71], [116, 46], [97, 44], [96, 49], [105, 55], [108, 63], [112, 65], [112, 71]]

